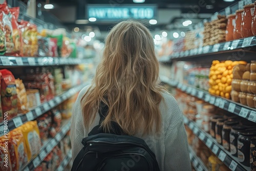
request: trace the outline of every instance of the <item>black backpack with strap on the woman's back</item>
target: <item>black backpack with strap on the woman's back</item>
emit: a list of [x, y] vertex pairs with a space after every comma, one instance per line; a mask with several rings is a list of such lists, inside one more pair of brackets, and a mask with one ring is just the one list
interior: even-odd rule
[[117, 123], [113, 131], [104, 133], [100, 127], [108, 107], [101, 105], [100, 122], [82, 139], [84, 147], [76, 156], [72, 171], [160, 171], [156, 156], [146, 142], [125, 135]]

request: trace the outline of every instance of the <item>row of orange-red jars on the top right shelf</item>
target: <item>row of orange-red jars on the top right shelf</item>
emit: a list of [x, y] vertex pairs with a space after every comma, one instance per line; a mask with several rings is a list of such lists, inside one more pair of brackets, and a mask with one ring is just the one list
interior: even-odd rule
[[256, 35], [256, 1], [228, 16], [226, 41]]

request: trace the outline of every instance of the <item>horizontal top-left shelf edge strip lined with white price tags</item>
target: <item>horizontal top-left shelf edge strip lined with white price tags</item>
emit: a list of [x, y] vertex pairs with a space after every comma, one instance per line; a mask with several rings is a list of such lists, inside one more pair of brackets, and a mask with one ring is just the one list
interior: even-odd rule
[[0, 67], [78, 65], [88, 62], [92, 62], [92, 59], [0, 56]]

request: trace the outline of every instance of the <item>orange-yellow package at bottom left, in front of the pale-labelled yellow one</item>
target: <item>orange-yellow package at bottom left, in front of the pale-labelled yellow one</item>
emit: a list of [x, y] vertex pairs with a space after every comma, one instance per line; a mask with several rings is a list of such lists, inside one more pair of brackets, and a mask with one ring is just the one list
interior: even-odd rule
[[9, 149], [12, 170], [18, 171], [28, 163], [27, 148], [22, 131], [15, 129], [9, 133]]

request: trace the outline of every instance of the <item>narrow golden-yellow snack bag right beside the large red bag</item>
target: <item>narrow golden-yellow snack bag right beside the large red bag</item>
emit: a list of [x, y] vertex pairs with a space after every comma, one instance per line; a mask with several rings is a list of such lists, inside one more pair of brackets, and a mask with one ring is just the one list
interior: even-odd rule
[[28, 99], [24, 83], [21, 79], [15, 79], [16, 91], [17, 91], [17, 106], [18, 113], [27, 113], [28, 110]]

